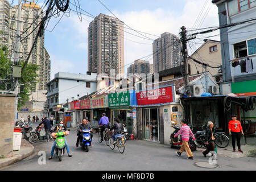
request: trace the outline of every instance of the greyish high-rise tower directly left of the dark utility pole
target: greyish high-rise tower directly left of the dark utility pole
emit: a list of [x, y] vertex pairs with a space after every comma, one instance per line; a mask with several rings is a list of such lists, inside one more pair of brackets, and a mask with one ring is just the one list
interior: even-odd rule
[[180, 65], [180, 44], [176, 35], [164, 32], [154, 40], [152, 48], [154, 73]]

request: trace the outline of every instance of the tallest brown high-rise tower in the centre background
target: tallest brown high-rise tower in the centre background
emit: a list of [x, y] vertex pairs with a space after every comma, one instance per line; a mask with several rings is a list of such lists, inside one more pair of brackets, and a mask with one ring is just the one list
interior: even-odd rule
[[124, 68], [123, 22], [100, 14], [88, 27], [88, 71], [122, 76]]

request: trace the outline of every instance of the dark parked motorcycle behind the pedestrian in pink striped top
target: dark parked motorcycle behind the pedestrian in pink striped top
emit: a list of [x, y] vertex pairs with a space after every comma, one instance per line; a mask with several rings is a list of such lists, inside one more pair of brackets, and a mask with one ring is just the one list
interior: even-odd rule
[[[180, 127], [177, 126], [177, 125], [174, 125], [172, 127], [174, 127], [175, 131], [172, 132], [171, 135], [170, 135], [171, 148], [180, 147], [181, 144], [182, 144], [181, 136], [178, 136], [178, 137], [174, 138], [174, 135], [180, 130]], [[192, 137], [189, 137], [188, 145], [189, 145], [189, 148], [191, 149], [191, 151], [196, 151], [196, 143], [194, 142]]]

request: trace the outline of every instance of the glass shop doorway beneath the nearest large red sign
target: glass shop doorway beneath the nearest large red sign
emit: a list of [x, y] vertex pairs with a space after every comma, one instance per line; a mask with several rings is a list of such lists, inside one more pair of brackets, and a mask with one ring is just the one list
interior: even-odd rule
[[143, 138], [159, 142], [159, 109], [143, 109]]

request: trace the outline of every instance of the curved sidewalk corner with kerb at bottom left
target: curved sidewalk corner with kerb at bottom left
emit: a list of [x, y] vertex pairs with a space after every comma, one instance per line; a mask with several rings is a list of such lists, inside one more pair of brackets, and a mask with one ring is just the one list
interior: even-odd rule
[[16, 163], [19, 160], [27, 158], [34, 151], [34, 146], [30, 144], [26, 139], [22, 139], [19, 151], [13, 151], [13, 157], [0, 159], [0, 169], [10, 164]]

